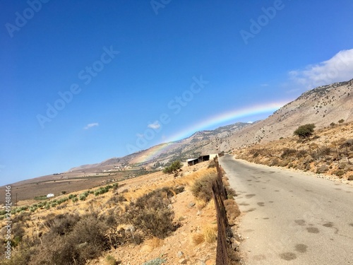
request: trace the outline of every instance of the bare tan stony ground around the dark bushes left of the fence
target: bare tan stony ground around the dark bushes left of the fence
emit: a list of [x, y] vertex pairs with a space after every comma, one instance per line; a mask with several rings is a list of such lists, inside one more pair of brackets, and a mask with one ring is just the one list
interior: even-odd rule
[[[158, 261], [164, 261], [163, 264], [198, 264], [211, 265], [215, 264], [216, 256], [216, 212], [215, 206], [211, 201], [207, 205], [202, 205], [191, 193], [191, 185], [193, 181], [205, 172], [210, 162], [200, 163], [192, 167], [183, 167], [178, 176], [155, 172], [151, 175], [144, 175], [134, 179], [128, 179], [125, 182], [119, 182], [119, 189], [109, 191], [100, 196], [91, 194], [85, 201], [71, 200], [66, 201], [60, 206], [52, 207], [49, 210], [37, 208], [30, 213], [28, 220], [25, 220], [25, 236], [33, 237], [40, 233], [47, 232], [44, 225], [47, 218], [51, 218], [61, 213], [79, 213], [83, 215], [90, 211], [96, 211], [100, 214], [107, 213], [109, 208], [114, 207], [109, 199], [114, 194], [124, 194], [129, 204], [130, 201], [137, 199], [143, 194], [147, 194], [152, 190], [161, 187], [175, 187], [183, 185], [184, 192], [172, 197], [170, 208], [174, 210], [174, 222], [179, 223], [179, 228], [164, 240], [147, 237], [140, 245], [124, 245], [116, 249], [110, 249], [104, 252], [101, 257], [88, 261], [87, 264], [130, 264], [143, 265], [144, 263], [154, 260], [154, 263], [161, 264]], [[201, 172], [201, 175], [198, 175]], [[82, 192], [75, 192], [81, 194]], [[53, 199], [59, 200], [63, 196], [56, 196]], [[31, 201], [27, 201], [31, 204]], [[4, 222], [1, 223], [4, 226]], [[124, 225], [127, 228], [128, 225]], [[201, 239], [202, 238], [202, 239]], [[160, 258], [160, 259], [158, 259]], [[110, 259], [110, 260], [109, 260]], [[113, 261], [116, 261], [114, 263]]]

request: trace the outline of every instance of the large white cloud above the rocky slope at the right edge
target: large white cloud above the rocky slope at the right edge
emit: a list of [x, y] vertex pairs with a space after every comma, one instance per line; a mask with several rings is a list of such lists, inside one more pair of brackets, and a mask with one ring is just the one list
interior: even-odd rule
[[348, 81], [353, 78], [353, 49], [342, 50], [331, 59], [304, 69], [289, 71], [289, 76], [308, 89]]

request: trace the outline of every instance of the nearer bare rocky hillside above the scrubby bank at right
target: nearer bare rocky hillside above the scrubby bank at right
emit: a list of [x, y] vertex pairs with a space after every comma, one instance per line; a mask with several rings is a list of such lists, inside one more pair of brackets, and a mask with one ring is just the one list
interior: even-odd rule
[[[251, 124], [237, 131], [221, 145], [239, 148], [251, 143], [263, 143], [292, 136], [294, 129], [301, 124], [313, 123], [317, 129], [329, 126], [332, 122], [344, 119], [353, 121], [353, 79], [333, 83], [306, 91], [296, 100], [274, 112], [267, 119]], [[212, 148], [210, 146], [210, 148]]]

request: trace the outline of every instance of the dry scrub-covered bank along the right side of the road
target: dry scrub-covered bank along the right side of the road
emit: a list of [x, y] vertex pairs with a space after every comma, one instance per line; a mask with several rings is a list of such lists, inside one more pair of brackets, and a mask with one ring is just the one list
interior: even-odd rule
[[353, 123], [332, 123], [307, 139], [296, 136], [234, 151], [236, 158], [353, 180]]

